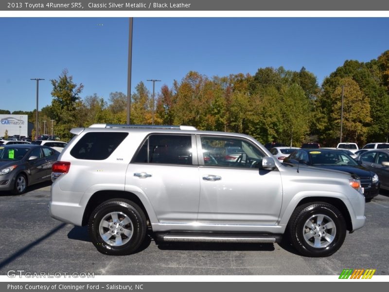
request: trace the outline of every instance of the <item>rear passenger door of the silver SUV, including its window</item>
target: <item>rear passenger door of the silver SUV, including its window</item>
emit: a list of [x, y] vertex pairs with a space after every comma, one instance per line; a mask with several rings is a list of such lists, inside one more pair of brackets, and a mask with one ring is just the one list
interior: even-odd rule
[[197, 219], [199, 181], [193, 140], [190, 134], [151, 134], [128, 165], [126, 190], [139, 187], [160, 223]]

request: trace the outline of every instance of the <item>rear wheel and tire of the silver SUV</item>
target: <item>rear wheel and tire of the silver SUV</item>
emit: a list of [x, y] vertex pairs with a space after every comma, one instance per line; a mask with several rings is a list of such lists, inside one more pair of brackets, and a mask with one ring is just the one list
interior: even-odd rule
[[125, 199], [100, 204], [88, 222], [89, 236], [94, 246], [102, 254], [111, 256], [134, 253], [143, 242], [146, 229], [146, 217], [141, 208]]

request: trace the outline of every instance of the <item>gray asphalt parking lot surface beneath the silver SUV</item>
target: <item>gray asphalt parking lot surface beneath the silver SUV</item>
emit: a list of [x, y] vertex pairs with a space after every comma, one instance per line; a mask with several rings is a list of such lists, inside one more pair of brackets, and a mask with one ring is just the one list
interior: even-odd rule
[[288, 245], [238, 243], [156, 244], [151, 236], [130, 256], [100, 254], [86, 227], [52, 219], [50, 183], [12, 196], [0, 193], [0, 275], [94, 273], [95, 275], [339, 275], [343, 269], [389, 274], [389, 192], [366, 203], [366, 224], [347, 234], [334, 255], [309, 258]]

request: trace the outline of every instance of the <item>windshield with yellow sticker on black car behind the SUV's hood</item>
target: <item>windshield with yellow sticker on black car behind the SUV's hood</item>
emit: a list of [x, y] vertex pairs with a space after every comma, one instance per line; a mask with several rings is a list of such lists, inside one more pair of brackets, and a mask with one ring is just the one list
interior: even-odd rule
[[356, 161], [342, 151], [310, 151], [312, 165], [358, 165]]

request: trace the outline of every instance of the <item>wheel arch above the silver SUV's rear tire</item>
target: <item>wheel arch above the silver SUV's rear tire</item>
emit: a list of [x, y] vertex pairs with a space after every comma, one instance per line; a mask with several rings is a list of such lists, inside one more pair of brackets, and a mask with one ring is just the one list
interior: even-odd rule
[[[144, 215], [146, 216], [147, 222], [150, 223], [150, 217], [148, 215], [148, 212], [142, 203], [141, 199], [137, 195], [131, 192], [125, 192], [125, 191], [112, 191], [112, 190], [102, 190], [95, 192], [88, 200], [88, 204], [85, 207], [84, 215], [82, 218], [82, 226], [85, 226], [88, 224], [88, 219], [90, 215], [92, 214], [93, 210], [100, 205], [101, 203], [112, 200], [112, 199], [126, 199], [133, 201], [136, 203], [141, 210], [143, 211]], [[151, 224], [149, 224], [151, 226]]]

